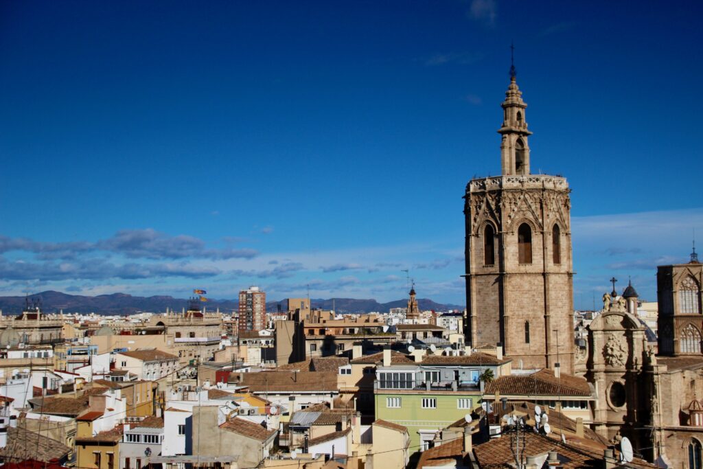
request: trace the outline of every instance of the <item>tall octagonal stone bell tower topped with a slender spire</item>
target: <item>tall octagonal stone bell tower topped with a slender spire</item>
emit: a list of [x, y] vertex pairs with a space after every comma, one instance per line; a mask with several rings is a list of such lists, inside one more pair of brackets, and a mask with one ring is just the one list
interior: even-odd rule
[[514, 67], [502, 107], [502, 174], [473, 179], [464, 195], [466, 342], [501, 343], [514, 368], [558, 362], [573, 373], [569, 185], [530, 174], [532, 132]]

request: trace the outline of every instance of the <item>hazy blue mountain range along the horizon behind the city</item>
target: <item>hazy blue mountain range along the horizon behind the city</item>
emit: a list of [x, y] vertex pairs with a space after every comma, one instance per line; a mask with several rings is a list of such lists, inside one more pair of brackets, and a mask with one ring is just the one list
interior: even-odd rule
[[[30, 301], [41, 298], [41, 309], [46, 313], [56, 313], [63, 309], [65, 313], [91, 313], [114, 315], [134, 314], [138, 311], [163, 312], [167, 308], [181, 311], [188, 307], [188, 300], [171, 296], [135, 297], [125, 293], [112, 295], [84, 296], [68, 295], [56, 291], [46, 291], [30, 296]], [[19, 314], [25, 307], [25, 297], [7, 296], [0, 297], [0, 309], [3, 314]], [[266, 302], [266, 310], [277, 311], [280, 302]], [[395, 300], [379, 303], [376, 300], [356, 300], [354, 298], [330, 298], [329, 300], [311, 300], [314, 308], [333, 309], [338, 313], [369, 313], [372, 311], [387, 312], [390, 308], [406, 307], [408, 300]], [[441, 304], [425, 298], [418, 299], [421, 310], [434, 309], [434, 311], [447, 311], [448, 309], [463, 309], [457, 304]], [[213, 300], [201, 303], [201, 307], [229, 312], [238, 308], [238, 300]]]

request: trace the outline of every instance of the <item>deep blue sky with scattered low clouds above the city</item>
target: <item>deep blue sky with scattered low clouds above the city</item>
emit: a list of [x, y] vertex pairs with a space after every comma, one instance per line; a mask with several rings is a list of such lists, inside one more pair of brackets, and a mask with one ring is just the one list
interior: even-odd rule
[[[0, 4], [0, 294], [463, 304], [510, 41], [574, 297], [703, 238], [700, 2]], [[703, 241], [702, 241], [703, 244]]]

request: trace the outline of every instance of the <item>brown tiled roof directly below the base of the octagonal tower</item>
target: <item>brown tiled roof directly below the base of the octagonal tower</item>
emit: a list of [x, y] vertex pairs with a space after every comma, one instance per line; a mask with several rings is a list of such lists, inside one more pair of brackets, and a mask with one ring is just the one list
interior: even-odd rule
[[486, 385], [486, 394], [496, 392], [506, 396], [557, 396], [591, 397], [591, 387], [585, 379], [574, 375], [561, 374], [555, 378], [554, 372], [542, 369], [531, 375], [510, 375], [496, 378]]

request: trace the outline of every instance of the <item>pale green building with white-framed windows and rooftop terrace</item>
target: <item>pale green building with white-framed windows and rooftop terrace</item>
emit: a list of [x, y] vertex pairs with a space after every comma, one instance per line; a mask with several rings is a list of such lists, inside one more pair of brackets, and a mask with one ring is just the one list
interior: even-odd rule
[[400, 357], [384, 352], [383, 363], [376, 366], [375, 418], [408, 428], [411, 453], [427, 449], [437, 430], [481, 406], [483, 371], [490, 369], [496, 378], [510, 374], [510, 359], [489, 354], [427, 355], [418, 350]]

